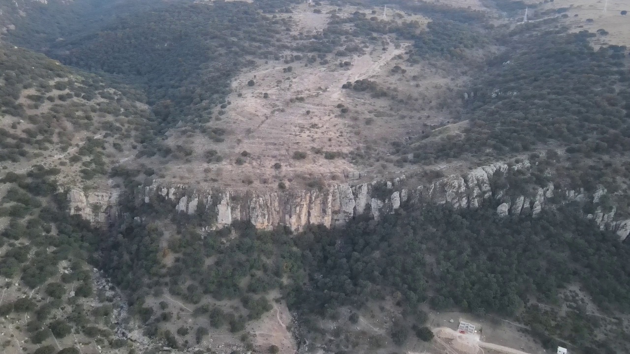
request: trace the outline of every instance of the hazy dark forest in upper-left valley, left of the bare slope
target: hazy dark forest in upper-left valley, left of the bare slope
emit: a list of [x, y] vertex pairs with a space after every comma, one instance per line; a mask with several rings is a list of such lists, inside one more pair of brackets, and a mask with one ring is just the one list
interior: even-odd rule
[[[148, 11], [143, 1], [129, 8], [79, 3], [86, 9], [70, 13], [62, 5], [46, 10], [35, 5], [41, 11], [21, 19], [8, 38], [66, 65], [142, 89], [159, 132], [181, 121], [207, 122], [213, 106], [224, 102], [232, 77], [251, 65], [245, 56], [273, 57], [274, 49], [283, 45], [278, 34], [288, 23], [264, 13], [284, 11], [290, 4], [183, 1]], [[102, 6], [113, 7], [106, 20], [98, 15]], [[86, 28], [65, 25], [73, 22]], [[47, 25], [54, 30], [45, 30]]]

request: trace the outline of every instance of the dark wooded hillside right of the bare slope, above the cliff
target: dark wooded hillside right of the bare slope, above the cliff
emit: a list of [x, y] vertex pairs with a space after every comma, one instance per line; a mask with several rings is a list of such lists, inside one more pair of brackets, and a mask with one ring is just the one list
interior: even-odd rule
[[[616, 154], [628, 148], [626, 48], [594, 50], [595, 33], [512, 32], [508, 49], [471, 87], [463, 139], [419, 142], [418, 162], [462, 154], [501, 156], [549, 144], [567, 152]], [[515, 40], [518, 38], [518, 40]], [[604, 118], [606, 117], [606, 118]]]

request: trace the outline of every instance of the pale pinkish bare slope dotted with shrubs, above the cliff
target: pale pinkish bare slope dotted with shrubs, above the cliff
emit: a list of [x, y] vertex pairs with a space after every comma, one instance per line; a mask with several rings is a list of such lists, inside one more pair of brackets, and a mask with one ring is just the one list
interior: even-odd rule
[[[329, 11], [343, 17], [360, 10], [377, 18], [383, 11], [318, 9], [321, 13], [314, 13], [302, 4], [278, 16], [290, 17], [291, 35], [297, 38], [321, 33]], [[387, 19], [421, 25], [429, 21], [393, 9], [387, 10]], [[389, 35], [353, 43], [362, 54], [333, 53], [309, 62], [312, 54], [287, 51], [278, 54], [279, 60], [256, 60], [253, 69], [234, 79], [229, 105], [218, 108], [221, 112], [209, 124], [225, 131], [225, 141], [215, 144], [199, 134], [173, 134], [171, 144], [190, 146], [195, 153], [188, 162], [169, 163], [161, 171], [164, 179], [264, 190], [277, 188], [278, 181], [304, 188], [313, 180], [341, 181], [354, 171], [390, 171], [392, 143], [421, 135], [430, 125], [447, 124], [462, 101], [458, 88], [468, 78], [461, 67], [443, 62], [411, 64], [406, 60], [412, 43]], [[342, 88], [362, 79], [386, 95]], [[197, 162], [208, 149], [223, 160]], [[295, 159], [296, 152], [306, 157]], [[272, 168], [277, 163], [282, 167]]]

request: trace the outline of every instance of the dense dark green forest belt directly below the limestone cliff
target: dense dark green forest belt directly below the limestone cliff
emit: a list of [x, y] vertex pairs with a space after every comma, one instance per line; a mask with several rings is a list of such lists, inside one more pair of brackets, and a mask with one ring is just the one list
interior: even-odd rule
[[[133, 202], [129, 207], [139, 212]], [[580, 285], [606, 313], [630, 311], [630, 269], [622, 261], [630, 248], [584, 219], [578, 205], [544, 211], [537, 219], [502, 219], [490, 205], [476, 211], [429, 206], [295, 235], [256, 231], [249, 223], [200, 233], [192, 228], [200, 215], [168, 214], [178, 227], [166, 248], [159, 246], [159, 220], [168, 206], [140, 210], [144, 221], [125, 221], [103, 237], [95, 261], [129, 290], [150, 328], [161, 320], [157, 309], [142, 307], [144, 299], [164, 291], [191, 304], [239, 299], [241, 310], [217, 324], [236, 332], [242, 321], [271, 309], [265, 294], [278, 288], [306, 317], [336, 318], [340, 307], [360, 309], [387, 297], [399, 299], [405, 320], [416, 326], [427, 318], [423, 304], [517, 317], [549, 348], [558, 340], [581, 349], [602, 345], [597, 333], [603, 324], [591, 317], [567, 320], [580, 331], [549, 327], [551, 314], [532, 305], [563, 302], [560, 290], [568, 285]], [[239, 236], [232, 238], [233, 232]], [[164, 264], [167, 254], [175, 257], [173, 265]], [[216, 261], [205, 263], [207, 258]]]

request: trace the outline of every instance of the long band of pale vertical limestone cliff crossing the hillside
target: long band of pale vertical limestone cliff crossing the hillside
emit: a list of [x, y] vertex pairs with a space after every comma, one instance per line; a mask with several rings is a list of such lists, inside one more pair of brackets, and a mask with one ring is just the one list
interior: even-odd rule
[[[138, 203], [169, 203], [176, 212], [197, 214], [212, 227], [224, 227], [236, 220], [248, 221], [260, 229], [284, 225], [301, 231], [307, 225], [342, 226], [356, 215], [369, 214], [375, 219], [398, 208], [449, 204], [454, 208], [478, 208], [497, 205], [499, 215], [539, 214], [546, 205], [559, 202], [592, 201], [597, 208], [587, 217], [602, 229], [617, 232], [621, 239], [630, 233], [630, 220], [614, 220], [616, 209], [605, 209], [599, 201], [607, 193], [599, 188], [592, 195], [584, 191], [554, 190], [553, 185], [534, 187], [527, 195], [511, 195], [510, 186], [499, 188], [495, 180], [509, 170], [529, 171], [526, 161], [515, 166], [496, 163], [473, 169], [466, 174], [447, 176], [428, 185], [413, 186], [404, 176], [393, 181], [374, 181], [350, 185], [342, 183], [325, 190], [255, 191], [193, 190], [188, 186], [147, 186], [134, 196]], [[95, 224], [104, 224], [115, 216], [117, 193], [68, 193], [71, 214], [80, 214]]]

